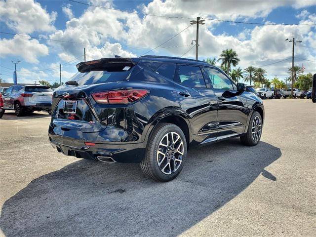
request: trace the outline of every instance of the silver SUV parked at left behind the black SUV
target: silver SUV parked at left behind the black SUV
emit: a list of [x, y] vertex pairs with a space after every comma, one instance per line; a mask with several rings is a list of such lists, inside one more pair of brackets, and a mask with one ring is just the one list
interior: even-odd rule
[[51, 111], [51, 89], [45, 85], [12, 85], [3, 94], [3, 109], [15, 110], [16, 116], [34, 111]]

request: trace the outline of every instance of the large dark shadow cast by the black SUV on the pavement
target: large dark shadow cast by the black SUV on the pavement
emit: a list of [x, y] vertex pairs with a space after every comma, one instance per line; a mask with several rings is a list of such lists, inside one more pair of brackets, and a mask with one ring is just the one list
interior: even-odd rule
[[139, 164], [79, 160], [6, 200], [0, 228], [7, 237], [176, 236], [258, 176], [276, 180], [265, 167], [280, 156], [268, 143], [246, 147], [230, 139], [191, 149], [181, 174], [168, 183], [148, 179]]

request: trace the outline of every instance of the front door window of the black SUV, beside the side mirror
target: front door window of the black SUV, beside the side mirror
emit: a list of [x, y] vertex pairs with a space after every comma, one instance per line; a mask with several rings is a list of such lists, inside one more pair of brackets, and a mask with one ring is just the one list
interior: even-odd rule
[[234, 90], [232, 81], [223, 73], [213, 68], [204, 68], [214, 89]]

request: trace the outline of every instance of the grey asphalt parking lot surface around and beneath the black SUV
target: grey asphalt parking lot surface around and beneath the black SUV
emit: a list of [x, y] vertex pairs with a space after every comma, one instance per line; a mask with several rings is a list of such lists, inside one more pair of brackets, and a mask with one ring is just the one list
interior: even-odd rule
[[261, 142], [191, 149], [169, 183], [64, 156], [46, 113], [0, 119], [2, 236], [316, 236], [316, 104], [264, 101]]

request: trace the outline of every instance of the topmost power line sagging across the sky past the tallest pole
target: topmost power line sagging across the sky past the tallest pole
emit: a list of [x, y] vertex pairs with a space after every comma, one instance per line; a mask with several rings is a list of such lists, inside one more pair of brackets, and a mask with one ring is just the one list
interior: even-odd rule
[[[119, 9], [115, 9], [115, 8], [105, 7], [105, 6], [92, 5], [89, 3], [82, 2], [82, 1], [76, 1], [76, 0], [69, 0], [69, 1], [76, 2], [76, 3], [82, 4], [82, 5], [86, 5], [86, 6], [98, 7], [98, 8], [103, 8], [103, 9], [107, 9], [107, 10], [114, 10], [114, 11], [142, 15], [142, 16], [154, 16], [154, 17], [170, 18], [170, 19], [196, 19], [196, 17], [188, 17], [188, 16], [161, 16], [161, 15], [154, 15], [154, 14], [146, 14], [146, 13], [139, 13], [137, 11], [136, 12], [135, 11], [126, 11], [126, 10], [119, 10]], [[316, 24], [256, 23], [256, 22], [244, 22], [244, 21], [219, 20], [219, 19], [214, 19], [214, 18], [202, 18], [202, 19], [210, 20], [210, 21], [228, 22], [228, 23], [236, 23], [236, 24], [251, 24], [251, 25], [316, 26]]]

